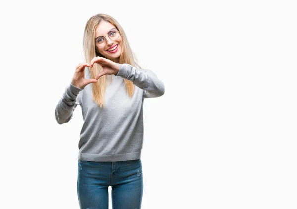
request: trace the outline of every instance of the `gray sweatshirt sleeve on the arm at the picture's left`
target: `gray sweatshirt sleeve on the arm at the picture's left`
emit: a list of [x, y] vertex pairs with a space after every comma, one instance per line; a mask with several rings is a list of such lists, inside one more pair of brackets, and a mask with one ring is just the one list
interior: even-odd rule
[[59, 124], [67, 123], [73, 116], [73, 111], [79, 103], [78, 96], [82, 95], [81, 88], [73, 86], [71, 83], [66, 87], [63, 97], [58, 102], [55, 109], [56, 121]]

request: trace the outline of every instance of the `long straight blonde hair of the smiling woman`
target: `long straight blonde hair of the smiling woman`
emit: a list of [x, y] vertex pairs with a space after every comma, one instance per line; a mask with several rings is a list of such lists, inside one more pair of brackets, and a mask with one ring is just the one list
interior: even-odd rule
[[[122, 36], [123, 43], [119, 64], [126, 63], [130, 64], [133, 67], [135, 67], [136, 65], [138, 66], [136, 62], [137, 59], [130, 48], [127, 36], [123, 28], [113, 17], [107, 14], [96, 14], [92, 16], [86, 24], [83, 41], [85, 61], [87, 63], [90, 63], [95, 56], [104, 57], [99, 52], [96, 52], [95, 47], [95, 29], [102, 20], [113, 24]], [[94, 64], [92, 68], [89, 67], [89, 71], [91, 78], [95, 79], [96, 75], [99, 72], [103, 71], [103, 68], [99, 64]], [[93, 100], [101, 108], [104, 107], [105, 104], [106, 76], [107, 75], [103, 75], [98, 79], [98, 82], [92, 83]], [[134, 84], [126, 79], [124, 79], [124, 82], [126, 86], [126, 93], [128, 92], [128, 96], [132, 97], [134, 93]]]

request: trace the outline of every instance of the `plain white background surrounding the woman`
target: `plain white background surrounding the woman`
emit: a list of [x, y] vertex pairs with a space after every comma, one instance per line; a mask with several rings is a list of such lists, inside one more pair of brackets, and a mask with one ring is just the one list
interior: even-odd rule
[[142, 209], [296, 209], [296, 9], [293, 0], [1, 3], [0, 208], [79, 209], [81, 108], [62, 125], [54, 111], [83, 61], [87, 20], [106, 13], [166, 87], [143, 107]]

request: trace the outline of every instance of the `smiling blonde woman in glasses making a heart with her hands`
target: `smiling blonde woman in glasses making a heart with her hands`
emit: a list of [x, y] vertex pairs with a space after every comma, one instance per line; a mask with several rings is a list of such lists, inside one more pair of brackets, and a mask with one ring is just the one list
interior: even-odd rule
[[[83, 126], [78, 154], [77, 193], [81, 209], [140, 209], [143, 194], [143, 101], [160, 97], [164, 83], [141, 69], [121, 25], [111, 16], [92, 16], [84, 32], [85, 63], [55, 109], [67, 123], [77, 105]], [[90, 84], [90, 85], [89, 85]]]

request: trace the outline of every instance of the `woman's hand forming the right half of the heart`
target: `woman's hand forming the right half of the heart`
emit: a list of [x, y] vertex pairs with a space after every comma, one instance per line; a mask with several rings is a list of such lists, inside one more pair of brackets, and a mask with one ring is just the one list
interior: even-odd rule
[[103, 75], [116, 75], [120, 69], [120, 64], [100, 56], [94, 57], [92, 59], [90, 63], [91, 67], [93, 67], [94, 63], [101, 65], [103, 68], [103, 71], [96, 76], [97, 80]]

